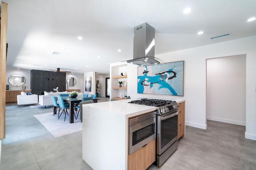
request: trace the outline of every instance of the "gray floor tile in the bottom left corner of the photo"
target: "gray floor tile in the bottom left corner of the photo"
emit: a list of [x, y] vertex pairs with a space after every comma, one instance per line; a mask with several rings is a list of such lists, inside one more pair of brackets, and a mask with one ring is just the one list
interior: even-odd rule
[[37, 163], [28, 140], [2, 145], [0, 169], [21, 169]]

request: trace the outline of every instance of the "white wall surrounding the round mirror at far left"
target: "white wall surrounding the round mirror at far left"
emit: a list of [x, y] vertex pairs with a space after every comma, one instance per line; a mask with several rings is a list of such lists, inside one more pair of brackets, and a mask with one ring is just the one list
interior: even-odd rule
[[26, 86], [26, 90], [31, 90], [30, 89], [30, 70], [6, 69], [6, 85], [8, 85], [8, 84], [10, 85], [9, 90], [22, 90], [22, 86], [12, 86], [8, 82], [8, 78], [12, 74], [20, 74], [20, 75], [24, 76], [26, 79], [26, 82], [22, 86]]

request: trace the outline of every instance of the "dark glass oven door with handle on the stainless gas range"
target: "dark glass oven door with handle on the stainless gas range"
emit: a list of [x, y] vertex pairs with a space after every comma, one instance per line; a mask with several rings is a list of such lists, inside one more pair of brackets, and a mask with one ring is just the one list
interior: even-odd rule
[[158, 115], [157, 119], [156, 153], [161, 155], [178, 140], [178, 110], [171, 111], [164, 115]]

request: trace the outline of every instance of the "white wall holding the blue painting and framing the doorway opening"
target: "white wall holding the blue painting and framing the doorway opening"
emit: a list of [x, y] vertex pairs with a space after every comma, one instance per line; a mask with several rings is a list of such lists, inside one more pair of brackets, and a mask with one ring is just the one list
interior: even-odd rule
[[[246, 134], [256, 140], [256, 36], [202, 47], [156, 55], [162, 61], [184, 62], [184, 96], [166, 96], [186, 100], [186, 125], [206, 129], [206, 59], [246, 54]], [[128, 94], [137, 97], [137, 66], [128, 64]], [[130, 84], [130, 85], [129, 85]], [[131, 86], [131, 84], [133, 86]], [[153, 96], [153, 95], [152, 95]], [[155, 95], [157, 96], [157, 95]]]

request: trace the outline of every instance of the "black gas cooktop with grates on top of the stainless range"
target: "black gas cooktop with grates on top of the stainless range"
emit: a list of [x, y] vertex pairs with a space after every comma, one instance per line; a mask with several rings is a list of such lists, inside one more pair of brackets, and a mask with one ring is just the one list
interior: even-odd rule
[[169, 104], [174, 104], [176, 102], [172, 101], [172, 100], [141, 99], [141, 100], [133, 100], [133, 101], [130, 101], [128, 103], [141, 104], [141, 105], [154, 106], [154, 107], [161, 107], [161, 106], [166, 106], [166, 105], [169, 105]]

